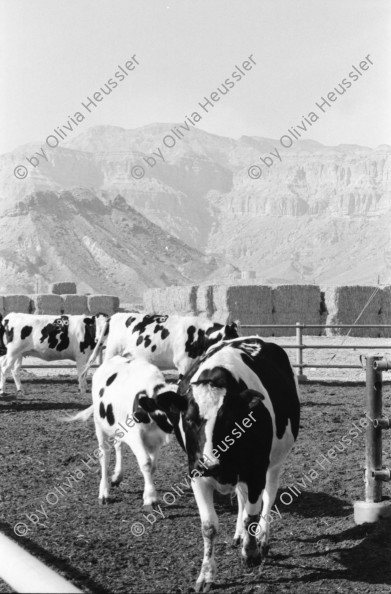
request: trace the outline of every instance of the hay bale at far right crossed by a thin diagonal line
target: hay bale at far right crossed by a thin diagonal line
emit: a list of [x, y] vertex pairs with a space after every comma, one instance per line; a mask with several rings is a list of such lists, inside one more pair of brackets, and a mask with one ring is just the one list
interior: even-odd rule
[[[362, 310], [364, 312], [357, 320], [357, 324], [380, 324], [382, 311], [382, 292], [373, 296], [376, 287], [371, 286], [341, 286], [325, 289], [326, 307], [328, 311], [327, 324], [353, 324]], [[349, 332], [350, 330], [350, 332]], [[328, 336], [370, 336], [381, 335], [380, 328], [328, 328]]]

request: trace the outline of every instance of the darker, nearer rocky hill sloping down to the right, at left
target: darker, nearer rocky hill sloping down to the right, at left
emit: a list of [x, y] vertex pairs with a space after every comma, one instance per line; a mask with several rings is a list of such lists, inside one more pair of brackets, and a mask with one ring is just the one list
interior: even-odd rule
[[36, 191], [0, 217], [0, 294], [40, 291], [74, 279], [80, 292], [137, 302], [147, 287], [190, 284], [216, 270], [118, 196], [90, 190]]

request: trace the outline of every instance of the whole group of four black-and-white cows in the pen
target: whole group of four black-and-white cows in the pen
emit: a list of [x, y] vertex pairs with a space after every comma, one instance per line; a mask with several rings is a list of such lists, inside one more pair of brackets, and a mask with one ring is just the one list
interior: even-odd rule
[[[259, 565], [268, 550], [269, 514], [282, 465], [299, 429], [297, 381], [285, 351], [258, 336], [240, 337], [236, 324], [197, 317], [10, 313], [0, 316], [0, 395], [9, 371], [22, 392], [25, 356], [75, 361], [84, 394], [88, 369], [104, 347], [103, 363], [92, 378], [92, 405], [71, 419], [93, 415], [100, 502], [108, 501], [110, 484], [122, 480], [127, 443], [144, 477], [144, 507], [156, 506], [157, 458], [174, 433], [188, 457], [201, 517], [204, 558], [196, 591], [209, 591], [216, 578], [214, 490], [236, 492], [234, 542], [242, 543], [246, 564]], [[174, 367], [176, 385], [162, 373]], [[111, 480], [105, 438], [116, 453]]]

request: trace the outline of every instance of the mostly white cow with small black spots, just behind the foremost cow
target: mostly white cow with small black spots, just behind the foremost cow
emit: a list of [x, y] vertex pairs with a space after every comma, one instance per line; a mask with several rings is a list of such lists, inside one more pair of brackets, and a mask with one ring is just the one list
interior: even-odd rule
[[[137, 458], [144, 476], [144, 509], [151, 511], [157, 503], [153, 483], [160, 448], [168, 443], [173, 425], [162, 411], [146, 413], [140, 406], [142, 398], [175, 395], [165, 383], [162, 372], [146, 359], [115, 356], [105, 361], [92, 378], [92, 405], [66, 421], [86, 421], [94, 414], [102, 478], [100, 503], [109, 499], [110, 483], [122, 480], [122, 444], [126, 443]], [[108, 447], [106, 447], [108, 446]], [[115, 447], [116, 465], [111, 481], [108, 477], [111, 446]]]

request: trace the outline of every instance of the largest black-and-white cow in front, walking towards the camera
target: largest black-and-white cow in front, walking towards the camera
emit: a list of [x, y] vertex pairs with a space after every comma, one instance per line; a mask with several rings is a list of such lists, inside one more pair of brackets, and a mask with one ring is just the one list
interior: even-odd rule
[[174, 424], [181, 411], [179, 441], [187, 451], [204, 538], [196, 591], [208, 591], [216, 576], [215, 489], [236, 490], [234, 542], [242, 541], [248, 565], [260, 564], [282, 465], [299, 431], [298, 387], [285, 351], [259, 337], [220, 343], [186, 374], [177, 394], [140, 403], [166, 412]]

